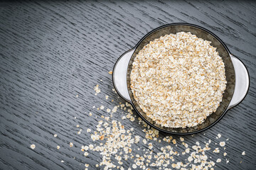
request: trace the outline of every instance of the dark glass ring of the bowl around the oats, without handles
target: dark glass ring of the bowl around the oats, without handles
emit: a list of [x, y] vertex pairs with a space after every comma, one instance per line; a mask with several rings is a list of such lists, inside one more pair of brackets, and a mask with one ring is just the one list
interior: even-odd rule
[[[142, 111], [142, 109], [139, 107], [139, 104], [134, 99], [132, 89], [130, 87], [130, 74], [132, 71], [132, 62], [134, 61], [134, 58], [137, 56], [138, 52], [142, 50], [144, 45], [148, 44], [151, 40], [160, 38], [161, 36], [164, 36], [166, 34], [176, 34], [181, 31], [191, 32], [198, 38], [203, 38], [203, 40], [211, 41], [210, 45], [213, 45], [213, 47], [217, 47], [217, 51], [219, 52], [219, 55], [220, 57], [222, 57], [223, 62], [225, 64], [225, 76], [227, 80], [227, 86], [223, 94], [223, 101], [220, 103], [220, 106], [218, 107], [217, 111], [209, 115], [203, 123], [191, 128], [166, 128], [154, 123], [154, 121], [151, 120], [151, 118], [149, 118], [148, 116], [146, 116], [146, 113], [144, 113], [144, 111]], [[149, 125], [153, 126], [157, 130], [161, 130], [164, 132], [169, 132], [178, 135], [189, 135], [210, 128], [211, 125], [214, 125], [218, 122], [218, 120], [220, 120], [220, 118], [223, 117], [235, 90], [235, 70], [228, 52], [228, 48], [216, 35], [210, 33], [210, 31], [204, 28], [201, 28], [199, 26], [193, 26], [191, 24], [169, 24], [152, 30], [150, 33], [145, 35], [144, 38], [142, 38], [142, 40], [140, 40], [140, 42], [137, 44], [136, 50], [134, 51], [131, 60], [129, 61], [127, 69], [127, 87], [135, 111], [137, 111], [137, 113], [146, 121], [146, 123], [149, 123]]]

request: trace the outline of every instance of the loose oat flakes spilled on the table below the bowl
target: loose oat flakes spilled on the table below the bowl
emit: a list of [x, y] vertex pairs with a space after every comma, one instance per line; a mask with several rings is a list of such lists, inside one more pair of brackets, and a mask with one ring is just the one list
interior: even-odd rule
[[[99, 91], [99, 85], [95, 86], [95, 91]], [[105, 98], [108, 100], [109, 96]], [[158, 130], [149, 127], [141, 118], [134, 115], [129, 103], [119, 103], [112, 109], [99, 106], [97, 110], [103, 110], [109, 115], [101, 116], [94, 132], [87, 129], [92, 143], [82, 145], [81, 151], [85, 157], [90, 157], [89, 150], [99, 153], [102, 157], [99, 164], [85, 164], [85, 170], [89, 166], [95, 166], [98, 169], [214, 169], [215, 163], [221, 162], [221, 159], [212, 160], [208, 153], [220, 154], [221, 149], [224, 152], [223, 156], [227, 155], [224, 141], [212, 149], [210, 140], [203, 144], [196, 142], [195, 145], [188, 146], [183, 137], [179, 139], [174, 139], [172, 136], [159, 137]], [[145, 136], [136, 135], [134, 128], [125, 128], [122, 120], [114, 120], [112, 115], [116, 113], [122, 113], [122, 120], [129, 119], [133, 122], [137, 119], [142, 125]], [[221, 135], [218, 134], [216, 138], [220, 137]], [[158, 148], [159, 142], [165, 142], [165, 147]], [[142, 147], [138, 147], [139, 145]], [[177, 152], [181, 147], [183, 152]], [[157, 152], [158, 149], [160, 152]], [[177, 157], [185, 157], [185, 159], [183, 162], [177, 162]], [[133, 163], [127, 167], [124, 164], [128, 160]], [[228, 159], [225, 159], [225, 162], [228, 164]]]

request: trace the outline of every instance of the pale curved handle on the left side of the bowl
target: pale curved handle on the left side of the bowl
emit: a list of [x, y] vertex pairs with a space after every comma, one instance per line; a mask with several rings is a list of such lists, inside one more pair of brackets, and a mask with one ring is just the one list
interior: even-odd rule
[[114, 84], [114, 89], [116, 89], [119, 96], [124, 98], [125, 101], [131, 103], [131, 98], [129, 97], [129, 92], [127, 88], [127, 68], [129, 60], [134, 53], [134, 48], [124, 52], [117, 62], [114, 64], [112, 79]]

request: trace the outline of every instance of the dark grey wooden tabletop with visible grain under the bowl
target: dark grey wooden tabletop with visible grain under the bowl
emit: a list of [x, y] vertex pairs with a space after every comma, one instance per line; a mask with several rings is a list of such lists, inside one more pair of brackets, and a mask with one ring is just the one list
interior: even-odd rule
[[[212, 140], [210, 147], [219, 147], [220, 154], [210, 151], [209, 159], [222, 159], [215, 169], [256, 169], [255, 11], [252, 1], [1, 2], [0, 169], [85, 169], [85, 164], [90, 164], [89, 169], [100, 169], [95, 165], [101, 156], [89, 151], [85, 157], [80, 149], [99, 143], [92, 142], [86, 130], [95, 130], [100, 116], [110, 115], [96, 108], [124, 103], [112, 91], [108, 72], [117, 58], [150, 30], [176, 22], [211, 30], [250, 72], [245, 100], [213, 128], [186, 136], [185, 141], [191, 147], [196, 141], [203, 144]], [[96, 84], [101, 89], [97, 96], [93, 89]], [[112, 119], [144, 137], [138, 120], [122, 120], [123, 115], [118, 109]], [[76, 125], [82, 129], [80, 135]], [[220, 139], [215, 138], [218, 133]], [[159, 139], [164, 135], [161, 133]], [[178, 136], [173, 137], [178, 141]], [[226, 142], [225, 151], [218, 146], [220, 141]], [[156, 151], [166, 145], [151, 142]], [[32, 144], [35, 149], [31, 149]], [[137, 147], [143, 145], [140, 141]], [[224, 157], [223, 152], [228, 155]], [[183, 157], [175, 159], [186, 162]], [[127, 169], [132, 164], [128, 161], [123, 166]]]

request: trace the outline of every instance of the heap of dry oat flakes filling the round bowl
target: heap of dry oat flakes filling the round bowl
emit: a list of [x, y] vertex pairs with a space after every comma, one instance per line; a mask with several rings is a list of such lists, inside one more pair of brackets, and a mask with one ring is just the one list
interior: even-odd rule
[[203, 123], [220, 105], [227, 83], [216, 48], [184, 32], [145, 45], [134, 59], [130, 78], [142, 111], [171, 128]]

